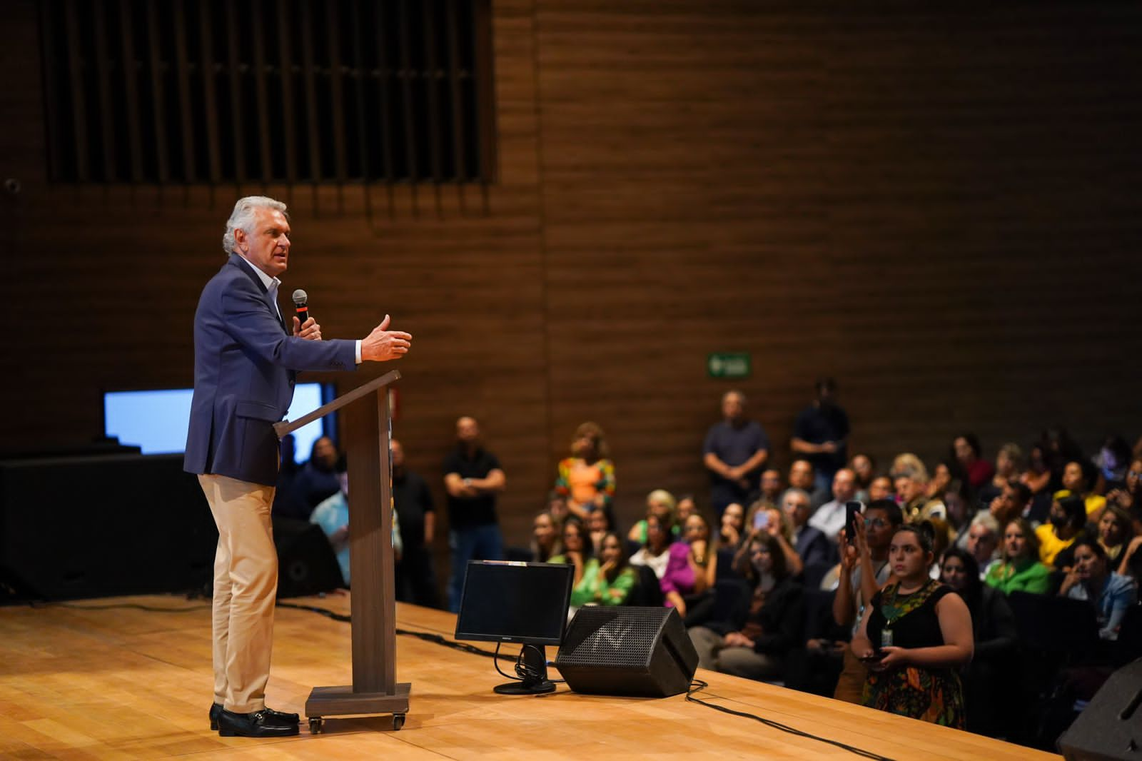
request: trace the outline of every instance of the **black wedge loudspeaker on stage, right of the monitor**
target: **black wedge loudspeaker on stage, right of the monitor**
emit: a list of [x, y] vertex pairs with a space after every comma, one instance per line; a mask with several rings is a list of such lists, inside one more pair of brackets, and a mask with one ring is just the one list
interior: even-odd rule
[[580, 608], [555, 666], [576, 692], [668, 697], [686, 691], [698, 652], [674, 608]]

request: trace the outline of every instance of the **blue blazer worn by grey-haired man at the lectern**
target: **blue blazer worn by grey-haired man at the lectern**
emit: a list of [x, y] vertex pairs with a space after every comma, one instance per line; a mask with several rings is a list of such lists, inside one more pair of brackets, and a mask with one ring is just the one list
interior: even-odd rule
[[254, 269], [231, 254], [194, 313], [194, 396], [184, 470], [278, 482], [273, 424], [286, 417], [298, 370], [352, 370], [356, 342], [295, 338]]

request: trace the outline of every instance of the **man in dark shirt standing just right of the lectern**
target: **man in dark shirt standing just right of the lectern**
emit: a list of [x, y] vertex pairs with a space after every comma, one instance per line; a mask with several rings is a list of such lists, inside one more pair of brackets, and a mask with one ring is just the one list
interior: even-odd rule
[[401, 524], [401, 559], [396, 561], [396, 599], [428, 608], [440, 607], [432, 542], [436, 510], [420, 475], [404, 465], [404, 447], [393, 439], [393, 506]]

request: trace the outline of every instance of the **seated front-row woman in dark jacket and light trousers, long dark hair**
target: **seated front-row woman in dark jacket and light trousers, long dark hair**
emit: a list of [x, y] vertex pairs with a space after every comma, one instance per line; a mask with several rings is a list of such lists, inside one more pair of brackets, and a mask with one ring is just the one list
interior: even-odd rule
[[801, 641], [803, 590], [785, 567], [773, 537], [757, 534], [743, 569], [753, 592], [731, 620], [694, 626], [698, 665], [747, 679], [780, 679], [786, 654]]

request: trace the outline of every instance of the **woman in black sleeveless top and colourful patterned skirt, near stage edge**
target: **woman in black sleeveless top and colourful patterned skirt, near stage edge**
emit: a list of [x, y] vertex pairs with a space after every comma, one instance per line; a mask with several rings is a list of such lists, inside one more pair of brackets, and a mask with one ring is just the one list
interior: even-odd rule
[[972, 615], [951, 587], [928, 576], [933, 529], [902, 526], [892, 537], [894, 580], [872, 595], [853, 652], [868, 665], [862, 703], [964, 729], [958, 670], [972, 659]]

